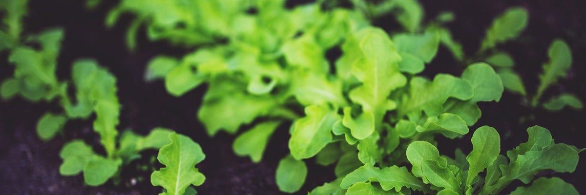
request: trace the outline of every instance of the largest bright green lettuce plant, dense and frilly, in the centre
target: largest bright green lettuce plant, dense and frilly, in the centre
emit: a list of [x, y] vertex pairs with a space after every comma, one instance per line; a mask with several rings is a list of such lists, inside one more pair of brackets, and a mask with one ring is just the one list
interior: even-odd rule
[[[227, 45], [202, 47], [183, 59], [156, 57], [146, 76], [164, 78], [176, 96], [207, 83], [200, 121], [210, 135], [253, 124], [233, 147], [254, 162], [280, 124], [291, 121], [291, 156], [277, 167], [282, 191], [301, 187], [303, 172], [284, 173], [304, 170], [303, 160], [313, 156], [322, 165], [337, 162], [339, 177], [364, 163], [406, 162], [407, 143], [464, 135], [481, 115], [476, 102], [500, 99], [502, 83], [487, 64], [473, 64], [462, 77], [414, 76], [437, 52], [435, 29], [391, 38], [346, 9], [271, 5], [242, 20], [247, 28], [231, 30]], [[335, 63], [325, 58], [332, 47], [343, 52]]]

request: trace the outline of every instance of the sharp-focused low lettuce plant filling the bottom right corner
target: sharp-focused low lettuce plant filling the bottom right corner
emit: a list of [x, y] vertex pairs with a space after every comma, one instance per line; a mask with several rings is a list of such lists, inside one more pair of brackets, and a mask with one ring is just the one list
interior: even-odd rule
[[[506, 156], [499, 155], [500, 137], [490, 126], [476, 129], [472, 152], [465, 156], [456, 150], [455, 159], [441, 156], [430, 142], [415, 141], [407, 148], [411, 172], [406, 167], [379, 169], [366, 164], [346, 175], [339, 182], [340, 188], [324, 185], [312, 194], [333, 194], [336, 190], [347, 190], [346, 194], [372, 190], [379, 191], [373, 194], [410, 194], [414, 190], [426, 194], [500, 194], [514, 180], [529, 184], [544, 170], [574, 172], [583, 149], [554, 143], [550, 132], [541, 126], [532, 126], [527, 133], [528, 141], [507, 151]], [[479, 175], [485, 170], [486, 175]], [[579, 194], [558, 177], [540, 177], [530, 186], [517, 187], [512, 194], [550, 194], [558, 189], [564, 194]]]

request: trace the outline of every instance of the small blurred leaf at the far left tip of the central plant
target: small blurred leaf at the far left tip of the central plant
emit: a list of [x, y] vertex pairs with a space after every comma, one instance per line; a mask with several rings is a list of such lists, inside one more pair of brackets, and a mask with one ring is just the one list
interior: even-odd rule
[[159, 78], [165, 78], [167, 73], [178, 66], [179, 61], [169, 56], [156, 56], [148, 62], [145, 80], [152, 81]]

